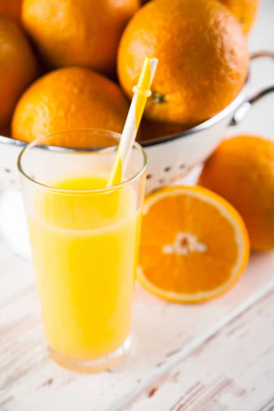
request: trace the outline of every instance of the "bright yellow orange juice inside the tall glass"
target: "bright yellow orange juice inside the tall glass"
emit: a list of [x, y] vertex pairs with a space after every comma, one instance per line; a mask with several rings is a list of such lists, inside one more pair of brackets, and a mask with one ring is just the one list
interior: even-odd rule
[[[106, 185], [103, 177], [54, 184]], [[42, 320], [51, 349], [76, 359], [112, 353], [129, 335], [140, 210], [132, 187], [108, 194], [40, 192], [29, 215]]]

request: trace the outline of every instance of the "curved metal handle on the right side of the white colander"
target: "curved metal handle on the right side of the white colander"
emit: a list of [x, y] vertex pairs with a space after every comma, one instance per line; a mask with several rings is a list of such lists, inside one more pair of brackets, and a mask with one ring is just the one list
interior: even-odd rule
[[[273, 51], [256, 51], [254, 53], [251, 53], [250, 55], [250, 60], [256, 60], [257, 58], [262, 58], [262, 57], [267, 57], [267, 58], [271, 58], [274, 60], [274, 52]], [[247, 114], [247, 112], [249, 112], [249, 110], [251, 109], [252, 105], [254, 103], [256, 103], [256, 101], [259, 101], [260, 99], [262, 99], [262, 97], [270, 94], [271, 92], [274, 92], [274, 85], [273, 86], [269, 86], [266, 88], [263, 88], [262, 90], [256, 92], [255, 95], [249, 97], [249, 99], [245, 100], [240, 107], [236, 110], [236, 112], [234, 113], [234, 116], [232, 118], [232, 121], [230, 122], [229, 125], [237, 125], [239, 124], [242, 119], [244, 119], [245, 114]]]

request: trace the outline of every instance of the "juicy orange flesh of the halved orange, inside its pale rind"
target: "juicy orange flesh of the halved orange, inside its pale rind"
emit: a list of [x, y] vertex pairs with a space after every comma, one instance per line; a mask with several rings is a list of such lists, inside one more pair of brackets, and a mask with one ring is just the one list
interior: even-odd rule
[[[239, 254], [235, 227], [222, 208], [195, 197], [191, 188], [178, 195], [168, 190], [170, 195], [155, 201], [143, 216], [140, 266], [147, 281], [159, 291], [186, 295], [210, 292], [228, 283]], [[200, 191], [204, 192], [197, 188]], [[179, 233], [196, 236], [202, 251], [176, 253]], [[170, 252], [164, 251], [165, 246]]]

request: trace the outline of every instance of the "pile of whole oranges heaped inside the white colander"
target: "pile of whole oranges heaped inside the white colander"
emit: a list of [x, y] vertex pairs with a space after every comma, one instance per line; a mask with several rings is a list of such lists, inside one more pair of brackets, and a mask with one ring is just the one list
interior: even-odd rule
[[0, 0], [0, 134], [10, 124], [25, 141], [75, 126], [121, 132], [145, 55], [159, 65], [140, 138], [223, 110], [247, 77], [258, 0], [142, 3]]

